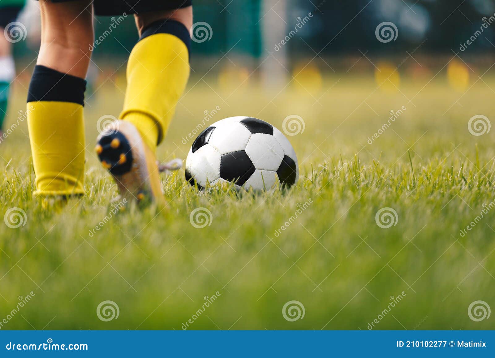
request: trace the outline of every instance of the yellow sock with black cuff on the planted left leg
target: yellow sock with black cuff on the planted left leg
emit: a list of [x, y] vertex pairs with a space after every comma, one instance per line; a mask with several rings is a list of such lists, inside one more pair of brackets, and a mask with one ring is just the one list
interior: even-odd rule
[[86, 82], [36, 66], [27, 103], [35, 195], [84, 194]]

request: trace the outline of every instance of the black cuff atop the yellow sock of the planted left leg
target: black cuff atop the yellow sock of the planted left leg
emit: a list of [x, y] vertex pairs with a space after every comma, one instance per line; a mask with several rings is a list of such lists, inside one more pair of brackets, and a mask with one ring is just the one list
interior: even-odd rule
[[29, 84], [27, 102], [56, 101], [84, 105], [85, 90], [86, 80], [36, 65]]

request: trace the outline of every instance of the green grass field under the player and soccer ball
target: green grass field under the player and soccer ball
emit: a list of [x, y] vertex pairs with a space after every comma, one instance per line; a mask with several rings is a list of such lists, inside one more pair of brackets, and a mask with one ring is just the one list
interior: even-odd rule
[[[27, 217], [15, 229], [0, 225], [0, 321], [19, 296], [35, 295], [1, 329], [181, 329], [217, 291], [189, 329], [367, 329], [399, 295], [374, 329], [495, 328], [493, 317], [468, 315], [474, 301], [495, 308], [495, 131], [474, 136], [467, 126], [474, 115], [493, 116], [495, 76], [479, 80], [479, 70], [463, 93], [445, 72], [431, 82], [436, 71], [405, 76], [395, 92], [377, 89], [372, 76], [329, 74], [313, 94], [292, 84], [282, 92], [247, 82], [227, 88], [193, 76], [160, 159], [185, 159], [192, 140], [182, 138], [217, 105], [210, 122], [249, 115], [282, 129], [297, 114], [305, 129], [289, 139], [299, 182], [272, 194], [202, 193], [181, 170], [162, 177], [168, 212], [131, 207], [95, 235], [117, 195], [93, 152], [96, 122], [118, 115], [123, 87], [106, 81], [86, 106], [87, 195], [64, 207], [32, 199], [23, 121], [0, 144], [1, 215], [20, 207]], [[7, 127], [24, 99], [17, 86]], [[461, 236], [484, 204], [488, 213]], [[201, 229], [190, 222], [198, 207], [212, 214]], [[384, 207], [396, 211], [395, 226], [377, 225]], [[106, 300], [118, 305], [117, 319], [99, 319]], [[305, 315], [288, 321], [282, 307], [293, 300]]]

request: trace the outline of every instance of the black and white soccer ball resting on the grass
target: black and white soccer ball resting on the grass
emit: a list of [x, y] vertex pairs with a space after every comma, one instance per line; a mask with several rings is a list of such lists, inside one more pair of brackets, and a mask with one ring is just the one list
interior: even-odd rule
[[297, 156], [289, 140], [271, 124], [252, 117], [230, 117], [213, 123], [193, 143], [186, 159], [186, 180], [233, 182], [236, 188], [268, 190], [277, 180], [297, 182]]

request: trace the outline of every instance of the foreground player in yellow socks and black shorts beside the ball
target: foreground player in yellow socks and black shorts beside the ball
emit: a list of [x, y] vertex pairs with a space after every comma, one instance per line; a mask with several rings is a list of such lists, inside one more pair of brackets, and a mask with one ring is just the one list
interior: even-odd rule
[[94, 13], [135, 14], [140, 40], [127, 64], [124, 108], [96, 151], [121, 194], [160, 201], [156, 146], [189, 78], [188, 0], [40, 0], [41, 47], [28, 93], [35, 195], [84, 193], [84, 92]]

